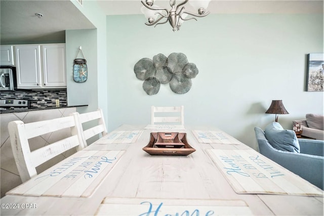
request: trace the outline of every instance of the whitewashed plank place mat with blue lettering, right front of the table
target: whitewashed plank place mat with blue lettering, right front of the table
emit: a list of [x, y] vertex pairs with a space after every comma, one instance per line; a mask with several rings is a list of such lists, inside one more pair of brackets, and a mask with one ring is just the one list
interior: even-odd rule
[[207, 152], [236, 193], [323, 196], [323, 191], [254, 150]]

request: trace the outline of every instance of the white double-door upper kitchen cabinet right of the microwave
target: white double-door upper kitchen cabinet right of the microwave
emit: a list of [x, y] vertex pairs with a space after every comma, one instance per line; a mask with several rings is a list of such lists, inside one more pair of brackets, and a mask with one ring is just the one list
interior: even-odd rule
[[65, 44], [15, 46], [17, 87], [66, 88]]

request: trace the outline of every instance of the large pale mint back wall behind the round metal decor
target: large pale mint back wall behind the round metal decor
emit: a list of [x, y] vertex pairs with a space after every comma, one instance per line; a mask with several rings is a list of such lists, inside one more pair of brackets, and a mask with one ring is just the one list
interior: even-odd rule
[[[108, 125], [148, 124], [150, 106], [185, 106], [185, 124], [219, 127], [257, 148], [254, 127], [274, 120], [265, 114], [271, 100], [282, 100], [288, 115], [323, 114], [323, 93], [305, 92], [306, 55], [323, 52], [323, 17], [319, 14], [220, 14], [148, 27], [142, 15], [107, 16]], [[184, 53], [199, 74], [191, 90], [174, 94], [161, 85], [148, 96], [134, 74], [141, 58]], [[101, 100], [101, 98], [100, 98]]]

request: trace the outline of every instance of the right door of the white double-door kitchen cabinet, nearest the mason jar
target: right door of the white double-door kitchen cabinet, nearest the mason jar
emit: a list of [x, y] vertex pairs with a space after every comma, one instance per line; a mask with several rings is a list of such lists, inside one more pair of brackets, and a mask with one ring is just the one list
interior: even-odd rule
[[43, 45], [44, 87], [66, 87], [65, 44]]

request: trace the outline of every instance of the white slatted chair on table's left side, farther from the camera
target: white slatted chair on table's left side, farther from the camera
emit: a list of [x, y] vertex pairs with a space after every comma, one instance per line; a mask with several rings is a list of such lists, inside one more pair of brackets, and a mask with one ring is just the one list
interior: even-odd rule
[[[87, 140], [89, 140], [90, 138], [98, 134], [101, 134], [102, 136], [105, 136], [107, 134], [107, 128], [106, 128], [105, 120], [101, 109], [98, 109], [93, 112], [82, 113], [82, 114], [74, 112], [72, 113], [72, 115], [74, 116], [76, 123], [78, 124], [77, 126], [80, 128], [81, 136], [83, 138], [84, 145], [86, 147], [88, 146]], [[83, 123], [89, 122], [88, 125], [90, 125], [91, 121], [93, 120], [97, 120], [95, 126], [91, 126], [88, 129], [83, 129], [84, 128], [84, 126], [82, 125]]]

